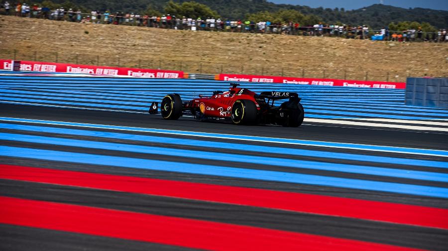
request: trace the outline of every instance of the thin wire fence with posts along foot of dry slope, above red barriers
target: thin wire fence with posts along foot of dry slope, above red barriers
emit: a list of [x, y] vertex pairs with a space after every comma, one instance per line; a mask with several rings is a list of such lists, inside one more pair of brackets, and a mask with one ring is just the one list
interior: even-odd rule
[[87, 65], [105, 65], [131, 68], [150, 68], [165, 70], [181, 70], [192, 74], [247, 74], [269, 76], [292, 76], [302, 78], [333, 78], [373, 81], [405, 82], [410, 72], [379, 71], [357, 68], [324, 68], [290, 67], [278, 64], [254, 66], [250, 64], [205, 63], [198, 61], [176, 61], [166, 58], [138, 59], [125, 55], [91, 55], [68, 52], [23, 52], [20, 50], [0, 49], [0, 59], [40, 61], [55, 63], [75, 63]]

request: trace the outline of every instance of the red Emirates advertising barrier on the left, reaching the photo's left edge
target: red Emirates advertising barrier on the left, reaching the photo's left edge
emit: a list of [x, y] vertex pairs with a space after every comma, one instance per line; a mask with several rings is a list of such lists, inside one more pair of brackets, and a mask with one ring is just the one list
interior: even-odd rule
[[[17, 62], [17, 61], [16, 61]], [[130, 77], [148, 77], [148, 78], [183, 78], [184, 72], [179, 70], [158, 70], [158, 69], [139, 69], [111, 66], [95, 66], [73, 63], [48, 63], [35, 61], [18, 61], [20, 70], [25, 71], [44, 71], [44, 72], [66, 72], [66, 73], [84, 73], [98, 74], [108, 76], [130, 76]], [[11, 60], [0, 60], [0, 69], [9, 69], [13, 67]]]

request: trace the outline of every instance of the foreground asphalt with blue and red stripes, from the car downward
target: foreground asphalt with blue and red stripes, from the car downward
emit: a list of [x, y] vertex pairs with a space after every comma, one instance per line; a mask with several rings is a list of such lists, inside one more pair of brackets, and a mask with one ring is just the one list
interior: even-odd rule
[[10, 103], [0, 117], [1, 250], [448, 247], [447, 131]]

